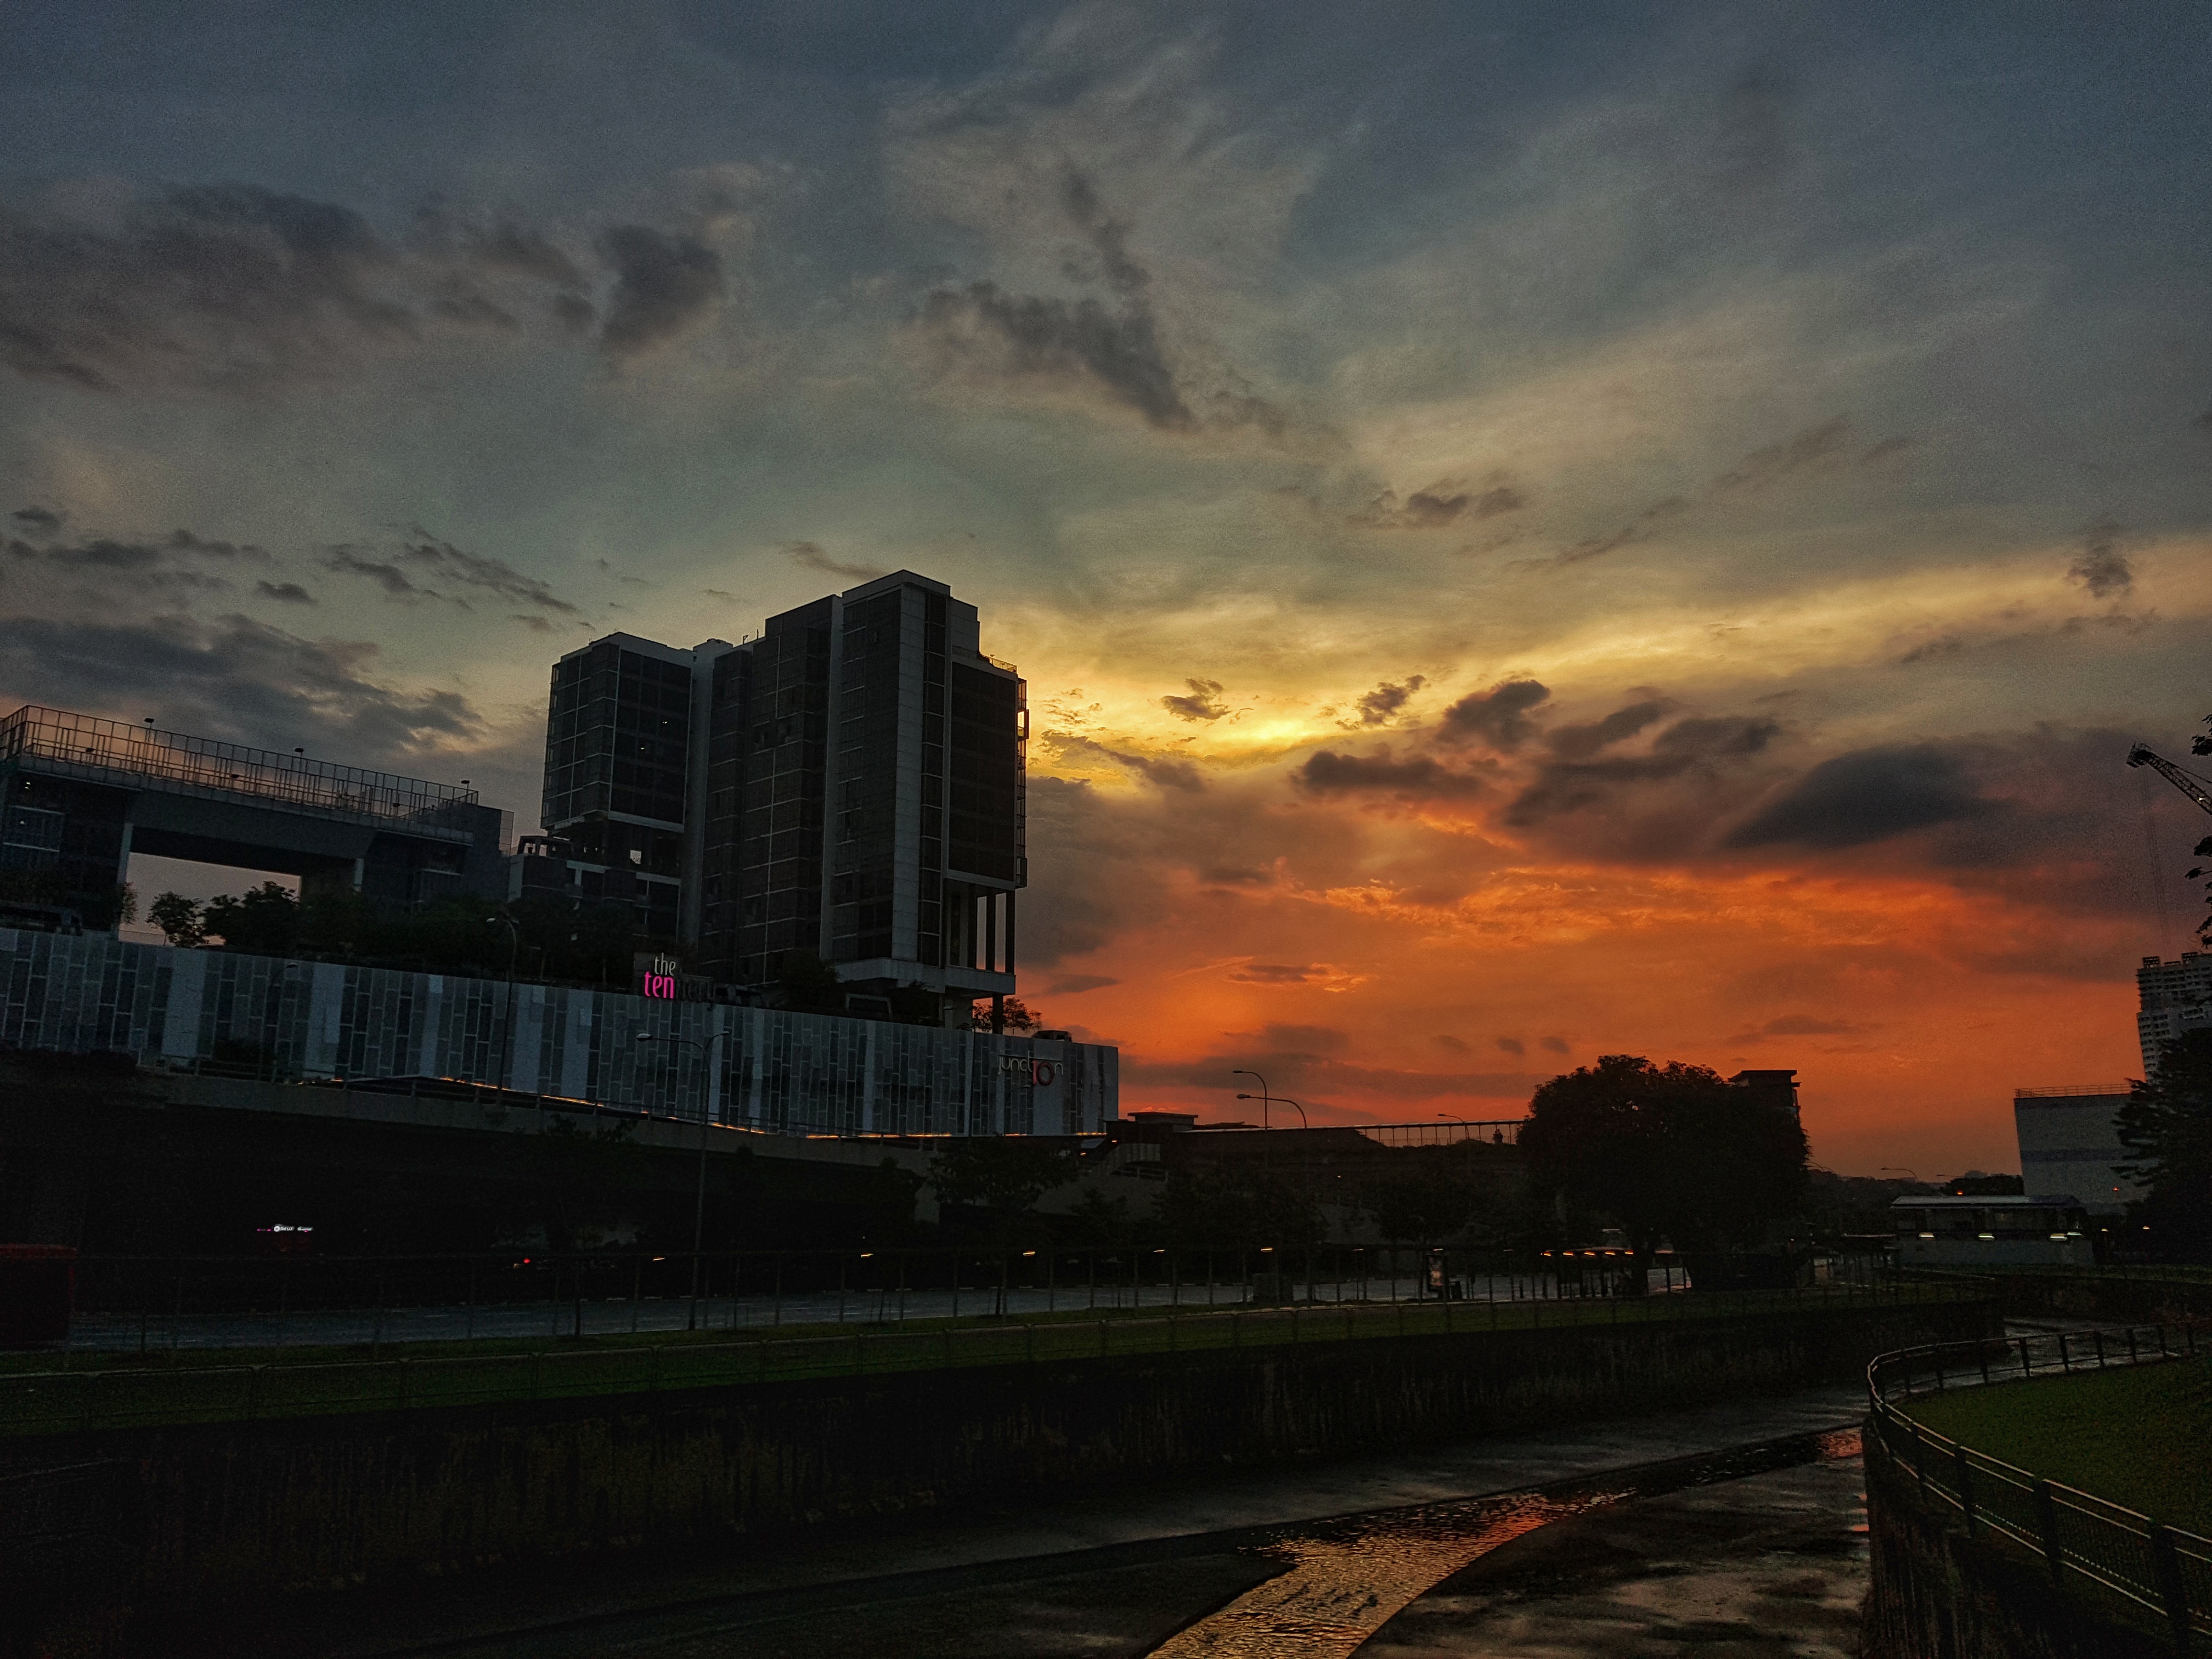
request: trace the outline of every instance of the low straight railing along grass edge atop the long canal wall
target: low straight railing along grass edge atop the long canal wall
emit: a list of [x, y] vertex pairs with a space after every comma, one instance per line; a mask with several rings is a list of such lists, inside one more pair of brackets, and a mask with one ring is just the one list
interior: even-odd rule
[[[1031, 1318], [936, 1329], [860, 1327], [750, 1340], [628, 1343], [416, 1354], [336, 1363], [135, 1365], [0, 1376], [0, 1436], [128, 1429], [157, 1422], [405, 1411], [495, 1400], [655, 1394], [821, 1376], [872, 1376], [1040, 1360], [1093, 1360], [1201, 1349], [1303, 1347], [1363, 1338], [1475, 1336], [1619, 1327], [1792, 1312], [1920, 1307], [1975, 1301], [1964, 1285], [1825, 1285], [1710, 1296], [1528, 1303], [1314, 1303], [1188, 1312], [1172, 1318]], [[456, 1345], [458, 1347], [458, 1345]]]

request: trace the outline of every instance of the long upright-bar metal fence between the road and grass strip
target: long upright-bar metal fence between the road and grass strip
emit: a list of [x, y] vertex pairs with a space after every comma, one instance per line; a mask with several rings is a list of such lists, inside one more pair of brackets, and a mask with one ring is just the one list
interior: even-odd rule
[[[511, 1250], [440, 1256], [82, 1256], [71, 1349], [385, 1345], [484, 1336], [907, 1323], [1073, 1312], [1210, 1312], [1283, 1303], [1562, 1303], [1679, 1296], [1686, 1263], [1637, 1283], [1617, 1250], [1502, 1256], [1416, 1245], [1040, 1245], [1033, 1250]], [[1812, 1287], [1871, 1263], [1803, 1263]], [[1708, 1274], [1705, 1290], [1721, 1283]]]

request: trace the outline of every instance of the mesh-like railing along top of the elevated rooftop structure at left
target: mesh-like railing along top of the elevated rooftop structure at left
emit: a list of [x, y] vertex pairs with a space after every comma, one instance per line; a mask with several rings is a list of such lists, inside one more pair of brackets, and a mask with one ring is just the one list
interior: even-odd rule
[[35, 703], [0, 719], [0, 761], [33, 761], [42, 772], [93, 783], [246, 796], [294, 812], [405, 825], [442, 841], [467, 841], [469, 832], [453, 818], [453, 807], [476, 805], [476, 790], [449, 783], [365, 772]]

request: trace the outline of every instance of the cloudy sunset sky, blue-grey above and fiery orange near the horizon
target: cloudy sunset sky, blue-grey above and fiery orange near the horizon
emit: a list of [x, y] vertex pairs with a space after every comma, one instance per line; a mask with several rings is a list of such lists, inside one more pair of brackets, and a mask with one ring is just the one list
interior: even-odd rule
[[1022, 989], [1124, 1110], [1641, 1053], [2017, 1170], [2194, 942], [2124, 757], [2212, 714], [2208, 35], [18, 0], [0, 703], [533, 827], [557, 655], [911, 568], [1029, 679]]

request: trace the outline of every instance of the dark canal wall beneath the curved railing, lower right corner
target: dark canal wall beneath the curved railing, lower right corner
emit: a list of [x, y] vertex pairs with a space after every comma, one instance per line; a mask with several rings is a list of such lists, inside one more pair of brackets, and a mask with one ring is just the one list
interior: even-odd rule
[[2152, 1659], [2154, 1628], [2119, 1624], [2066, 1595], [2026, 1555], [1966, 1537], [1920, 1502], [1913, 1475], [1867, 1425], [1867, 1531], [1874, 1582], [1865, 1659]]

